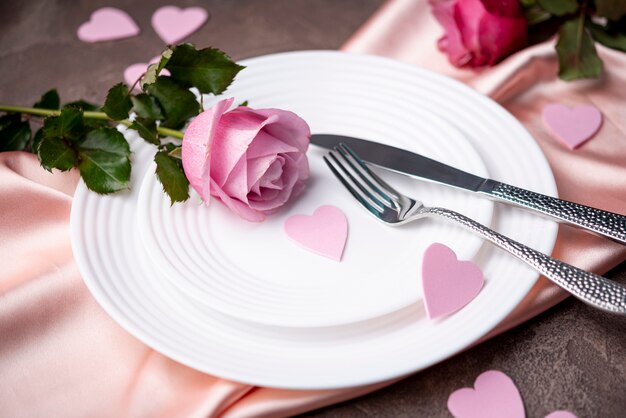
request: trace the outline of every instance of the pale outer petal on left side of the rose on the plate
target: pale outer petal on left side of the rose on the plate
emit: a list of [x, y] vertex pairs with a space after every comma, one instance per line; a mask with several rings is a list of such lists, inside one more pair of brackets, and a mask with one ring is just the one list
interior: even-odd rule
[[211, 109], [196, 116], [183, 137], [182, 161], [185, 175], [207, 204], [210, 198], [211, 145], [220, 118], [232, 102], [232, 98], [221, 100]]

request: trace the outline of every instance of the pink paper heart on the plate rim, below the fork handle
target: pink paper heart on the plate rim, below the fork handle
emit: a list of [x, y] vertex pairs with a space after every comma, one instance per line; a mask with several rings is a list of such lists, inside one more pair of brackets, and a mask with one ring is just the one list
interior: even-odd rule
[[471, 302], [485, 280], [471, 261], [458, 261], [443, 244], [434, 243], [424, 252], [422, 290], [429, 319], [449, 315]]

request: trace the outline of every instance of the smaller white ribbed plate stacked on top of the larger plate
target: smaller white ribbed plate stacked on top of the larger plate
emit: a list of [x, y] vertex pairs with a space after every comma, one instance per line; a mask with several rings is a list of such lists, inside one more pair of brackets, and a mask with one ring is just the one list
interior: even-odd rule
[[[351, 132], [351, 127], [360, 126], [360, 135], [368, 139], [488, 175], [463, 133], [427, 109], [435, 91], [420, 91], [414, 85], [403, 91], [406, 97], [392, 98], [403, 106], [363, 106], [375, 103], [377, 92], [370, 92], [372, 97], [362, 92], [357, 99], [350, 98], [349, 92], [362, 90], [359, 83], [367, 85], [368, 80], [350, 81], [351, 69], [302, 71], [309, 65], [307, 60], [313, 56], [297, 62], [301, 68], [293, 70], [299, 74], [294, 85], [282, 83], [278, 71], [251, 65], [247, 78], [237, 82], [253, 87], [227, 94], [236, 93], [236, 102], [254, 97], [250, 105], [257, 108], [294, 110], [313, 132]], [[343, 100], [328, 103], [328, 91], [311, 87], [320, 77], [335, 85], [333, 91]], [[272, 101], [274, 95], [280, 103]], [[381, 120], [393, 123], [382, 125]], [[195, 193], [172, 207], [153, 175], [155, 167], [150, 167], [141, 186], [137, 218], [150, 260], [174, 287], [213, 309], [269, 325], [316, 327], [362, 321], [417, 302], [420, 255], [433, 242], [452, 247], [462, 259], [476, 255], [482, 240], [451, 223], [428, 221], [389, 228], [363, 216], [365, 212], [322, 160], [325, 152], [315, 146], [309, 149], [311, 176], [305, 193], [262, 223], [246, 222], [218, 202], [207, 207]], [[424, 202], [457, 210], [483, 224], [491, 222], [489, 200], [406, 176], [381, 175]], [[341, 208], [348, 219], [341, 262], [302, 249], [283, 232], [289, 216], [311, 214], [328, 204]]]

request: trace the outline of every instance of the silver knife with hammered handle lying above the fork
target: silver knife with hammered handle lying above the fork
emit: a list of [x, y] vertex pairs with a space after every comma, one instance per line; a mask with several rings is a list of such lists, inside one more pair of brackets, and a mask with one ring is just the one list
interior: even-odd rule
[[333, 134], [311, 135], [311, 143], [332, 149], [344, 143], [359, 156], [376, 166], [459, 189], [469, 190], [496, 201], [550, 216], [626, 244], [626, 216], [580, 205], [525, 190], [496, 180], [486, 179], [440, 163], [407, 150]]

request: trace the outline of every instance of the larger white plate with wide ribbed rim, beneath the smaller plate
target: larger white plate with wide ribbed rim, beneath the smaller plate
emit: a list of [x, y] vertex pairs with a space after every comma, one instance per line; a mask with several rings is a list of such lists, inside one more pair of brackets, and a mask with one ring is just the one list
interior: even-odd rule
[[[276, 54], [244, 64], [248, 68], [229, 94], [248, 99], [256, 107], [299, 112], [314, 132], [319, 132], [320, 124], [334, 121], [341, 126], [334, 130], [338, 134], [382, 138], [386, 126], [394, 124], [394, 108], [427, 107], [429, 113], [461, 132], [492, 178], [556, 195], [549, 166], [523, 127], [497, 104], [453, 80], [383, 58], [339, 52]], [[298, 80], [307, 73], [317, 75], [314, 85], [300, 86]], [[342, 90], [339, 82], [327, 82], [328, 73], [346, 74], [349, 89]], [[267, 80], [264, 89], [246, 94], [251, 83], [256, 86], [262, 80]], [[289, 94], [273, 96], [278, 87], [270, 81], [276, 80], [289, 84]], [[303, 94], [293, 94], [294, 89]], [[304, 92], [309, 89], [321, 90], [327, 98], [318, 102], [321, 116], [311, 120], [312, 115], [305, 111], [308, 100]], [[427, 104], [424, 94], [428, 94]], [[356, 125], [341, 125], [346, 115], [363, 114], [367, 109], [370, 113], [371, 109], [381, 110], [374, 131], [365, 119]], [[398, 141], [408, 143], [414, 137], [411, 130]], [[422, 302], [417, 300], [387, 315], [341, 326], [293, 328], [243, 321], [189, 297], [151, 262], [135, 231], [139, 218], [146, 215], [137, 212], [137, 202], [153, 151], [141, 141], [133, 141], [133, 150], [130, 192], [102, 197], [88, 192], [82, 183], [79, 186], [72, 207], [76, 260], [94, 297], [115, 320], [156, 350], [207, 373], [294, 389], [339, 388], [402, 376], [471, 345], [497, 325], [537, 279], [523, 263], [483, 245], [473, 259], [482, 267], [485, 287], [469, 305], [441, 320], [427, 320]], [[423, 186], [411, 187], [421, 190]], [[361, 225], [365, 219], [376, 224], [364, 211], [341, 206], [351, 225]], [[226, 213], [219, 216], [227, 218]], [[356, 217], [363, 220], [354, 221]], [[501, 205], [495, 207], [491, 225], [544, 253], [550, 253], [556, 238], [556, 224]], [[418, 224], [413, 228], [413, 233], [420, 232]], [[419, 254], [414, 257], [415, 262], [420, 258]], [[419, 278], [415, 287], [419, 288]], [[382, 292], [380, 299], [385, 295]]]

